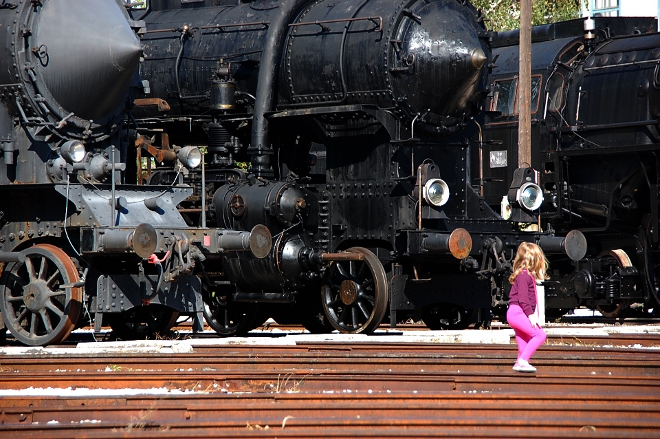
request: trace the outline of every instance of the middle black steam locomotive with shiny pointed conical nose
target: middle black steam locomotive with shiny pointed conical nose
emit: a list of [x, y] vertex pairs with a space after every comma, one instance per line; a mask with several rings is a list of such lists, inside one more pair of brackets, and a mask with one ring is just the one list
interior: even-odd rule
[[[132, 13], [148, 86], [131, 109], [136, 183], [190, 184], [190, 226], [273, 237], [266, 257], [226, 253], [206, 272], [204, 316], [221, 334], [268, 316], [313, 332], [369, 333], [386, 315], [465, 328], [502, 297], [519, 242], [584, 255], [582, 233], [521, 229], [485, 202], [467, 127], [495, 33], [469, 1], [155, 0]], [[201, 169], [177, 172], [174, 147], [201, 148]], [[520, 178], [521, 194], [540, 191]]]

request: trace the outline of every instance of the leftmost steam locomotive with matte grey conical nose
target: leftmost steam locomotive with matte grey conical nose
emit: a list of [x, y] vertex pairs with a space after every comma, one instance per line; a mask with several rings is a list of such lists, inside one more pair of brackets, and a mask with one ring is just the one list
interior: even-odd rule
[[[142, 25], [123, 2], [45, 0], [3, 2], [0, 28], [3, 337], [60, 343], [94, 321], [127, 339], [170, 328], [179, 312], [201, 328], [195, 264], [259, 254], [270, 235], [190, 229], [176, 208], [190, 186], [126, 184]], [[173, 152], [181, 173], [199, 164], [199, 150]]]

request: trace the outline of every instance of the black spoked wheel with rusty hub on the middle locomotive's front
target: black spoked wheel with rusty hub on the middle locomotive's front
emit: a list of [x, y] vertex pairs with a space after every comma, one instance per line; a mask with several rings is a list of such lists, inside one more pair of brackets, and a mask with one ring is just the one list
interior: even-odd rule
[[371, 251], [353, 247], [364, 261], [333, 261], [322, 289], [323, 310], [341, 332], [371, 334], [387, 311], [387, 279], [380, 260]]

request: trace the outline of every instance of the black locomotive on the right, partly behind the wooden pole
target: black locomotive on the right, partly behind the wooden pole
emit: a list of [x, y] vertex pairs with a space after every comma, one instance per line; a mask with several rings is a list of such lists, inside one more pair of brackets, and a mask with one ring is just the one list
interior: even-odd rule
[[[578, 306], [610, 318], [659, 306], [656, 30], [656, 19], [619, 17], [533, 28], [529, 166], [548, 201], [540, 220], [557, 235], [581, 231], [587, 244], [580, 261], [551, 261], [546, 306], [555, 317]], [[481, 153], [484, 197], [496, 208], [508, 204], [517, 163], [518, 32], [494, 47]]]

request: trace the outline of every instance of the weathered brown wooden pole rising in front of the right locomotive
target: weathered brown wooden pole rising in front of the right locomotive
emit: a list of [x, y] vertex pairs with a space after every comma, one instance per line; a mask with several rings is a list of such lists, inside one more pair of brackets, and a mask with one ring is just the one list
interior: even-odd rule
[[531, 1], [520, 0], [518, 167], [531, 167]]

